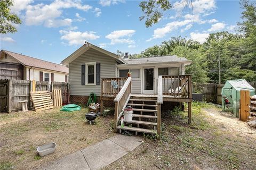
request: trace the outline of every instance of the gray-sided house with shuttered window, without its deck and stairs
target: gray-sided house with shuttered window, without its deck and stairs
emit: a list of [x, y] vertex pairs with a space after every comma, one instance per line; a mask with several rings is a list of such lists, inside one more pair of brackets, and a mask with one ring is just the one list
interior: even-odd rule
[[69, 67], [71, 102], [86, 100], [91, 92], [101, 94], [102, 78], [127, 77], [132, 72], [133, 94], [156, 94], [158, 75], [185, 74], [191, 61], [178, 56], [122, 58], [91, 43], [86, 43], [61, 64]]

